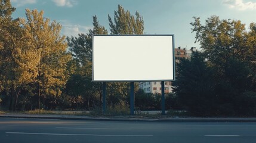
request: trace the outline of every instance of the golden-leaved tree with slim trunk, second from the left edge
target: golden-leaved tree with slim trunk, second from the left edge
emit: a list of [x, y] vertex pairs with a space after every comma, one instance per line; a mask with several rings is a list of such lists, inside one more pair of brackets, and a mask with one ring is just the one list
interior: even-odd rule
[[34, 82], [38, 90], [38, 108], [41, 108], [41, 96], [44, 102], [47, 95], [61, 94], [61, 89], [69, 77], [66, 66], [70, 60], [70, 54], [66, 52], [65, 36], [60, 36], [61, 25], [56, 21], [50, 22], [43, 15], [44, 11], [26, 10], [27, 20], [22, 21], [24, 29], [32, 39], [30, 46], [39, 57]]

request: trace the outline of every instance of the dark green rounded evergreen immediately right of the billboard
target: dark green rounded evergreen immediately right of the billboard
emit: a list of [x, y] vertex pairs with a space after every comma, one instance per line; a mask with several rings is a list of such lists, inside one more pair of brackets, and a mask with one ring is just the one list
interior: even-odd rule
[[180, 59], [176, 81], [173, 83], [174, 92], [190, 113], [197, 116], [216, 114], [213, 75], [213, 70], [208, 67], [201, 52], [193, 52], [190, 60]]

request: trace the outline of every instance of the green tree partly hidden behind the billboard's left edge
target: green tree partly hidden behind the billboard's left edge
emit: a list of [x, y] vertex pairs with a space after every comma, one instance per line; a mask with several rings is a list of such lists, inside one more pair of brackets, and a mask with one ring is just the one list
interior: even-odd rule
[[[81, 33], [78, 35], [78, 38], [71, 36], [67, 37], [67, 42], [69, 43], [69, 49], [72, 51], [73, 59], [76, 61], [76, 70], [72, 74], [69, 82], [79, 82], [84, 88], [79, 91], [79, 95], [84, 99], [84, 103], [87, 102], [87, 107], [90, 108], [92, 105], [99, 105], [97, 103], [98, 95], [101, 99], [101, 83], [92, 83], [92, 35], [107, 35], [107, 30], [104, 26], [99, 24], [97, 16], [93, 17], [93, 29], [89, 30], [87, 35]], [[79, 78], [81, 79], [79, 79]], [[73, 86], [73, 85], [72, 85]], [[68, 86], [67, 90], [69, 93], [75, 93], [77, 90]], [[73, 94], [72, 94], [73, 95]], [[78, 95], [78, 94], [77, 94]], [[101, 101], [101, 100], [100, 100]]]

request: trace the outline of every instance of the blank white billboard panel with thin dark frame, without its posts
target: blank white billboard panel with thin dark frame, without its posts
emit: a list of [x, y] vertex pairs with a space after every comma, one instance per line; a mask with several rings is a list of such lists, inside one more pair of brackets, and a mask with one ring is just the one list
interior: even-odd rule
[[174, 80], [174, 35], [93, 35], [92, 81]]

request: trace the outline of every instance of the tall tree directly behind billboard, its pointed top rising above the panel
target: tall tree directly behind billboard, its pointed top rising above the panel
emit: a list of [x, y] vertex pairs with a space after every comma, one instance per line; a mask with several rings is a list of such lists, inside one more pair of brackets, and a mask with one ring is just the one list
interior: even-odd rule
[[[112, 35], [143, 35], [144, 33], [144, 21], [143, 17], [136, 11], [135, 16], [132, 15], [128, 10], [118, 5], [118, 10], [114, 11], [114, 21], [109, 17], [109, 26], [110, 26], [110, 34]], [[108, 84], [109, 95], [111, 98], [110, 105], [115, 105], [118, 100], [125, 101], [128, 104], [128, 91], [129, 91], [129, 83], [128, 82], [114, 82]], [[138, 91], [138, 83], [135, 83], [135, 92]], [[115, 103], [115, 104], [113, 104]]]

